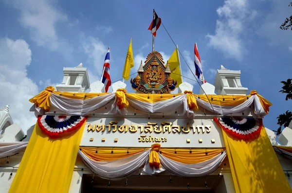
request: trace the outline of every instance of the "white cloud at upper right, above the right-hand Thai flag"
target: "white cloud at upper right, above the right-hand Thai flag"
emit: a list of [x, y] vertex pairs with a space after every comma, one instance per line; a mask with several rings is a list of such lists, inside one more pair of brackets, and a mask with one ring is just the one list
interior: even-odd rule
[[252, 10], [247, 0], [225, 0], [217, 9], [219, 19], [216, 21], [215, 35], [206, 35], [209, 45], [222, 52], [227, 58], [241, 60], [246, 52], [242, 35], [244, 28], [256, 18], [256, 10]]

